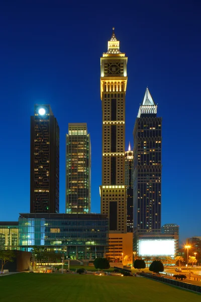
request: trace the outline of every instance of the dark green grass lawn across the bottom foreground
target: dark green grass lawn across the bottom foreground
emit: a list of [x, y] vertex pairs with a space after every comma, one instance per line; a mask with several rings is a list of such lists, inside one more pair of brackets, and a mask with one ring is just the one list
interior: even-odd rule
[[200, 302], [201, 295], [142, 277], [20, 273], [0, 277], [1, 302]]

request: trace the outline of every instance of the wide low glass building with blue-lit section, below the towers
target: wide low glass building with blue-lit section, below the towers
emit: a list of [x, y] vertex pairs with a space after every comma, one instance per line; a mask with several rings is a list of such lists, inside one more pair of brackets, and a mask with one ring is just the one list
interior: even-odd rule
[[107, 252], [109, 221], [106, 214], [22, 213], [19, 247], [30, 251], [45, 246], [70, 259], [95, 259]]

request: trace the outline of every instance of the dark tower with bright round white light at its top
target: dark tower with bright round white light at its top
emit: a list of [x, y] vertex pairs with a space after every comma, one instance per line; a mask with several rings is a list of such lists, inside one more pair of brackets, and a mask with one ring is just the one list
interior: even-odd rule
[[30, 212], [59, 212], [59, 126], [50, 105], [31, 116]]

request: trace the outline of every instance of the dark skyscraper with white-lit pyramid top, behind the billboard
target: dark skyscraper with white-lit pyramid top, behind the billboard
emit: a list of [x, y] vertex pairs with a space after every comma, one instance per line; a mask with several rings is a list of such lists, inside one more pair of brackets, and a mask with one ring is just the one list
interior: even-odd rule
[[134, 231], [160, 233], [161, 228], [161, 117], [146, 89], [135, 122]]

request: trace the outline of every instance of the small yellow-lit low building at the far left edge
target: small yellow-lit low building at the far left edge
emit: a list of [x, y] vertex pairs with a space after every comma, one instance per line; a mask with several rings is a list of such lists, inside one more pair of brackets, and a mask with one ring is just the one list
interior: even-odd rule
[[0, 250], [18, 249], [18, 221], [0, 222]]

